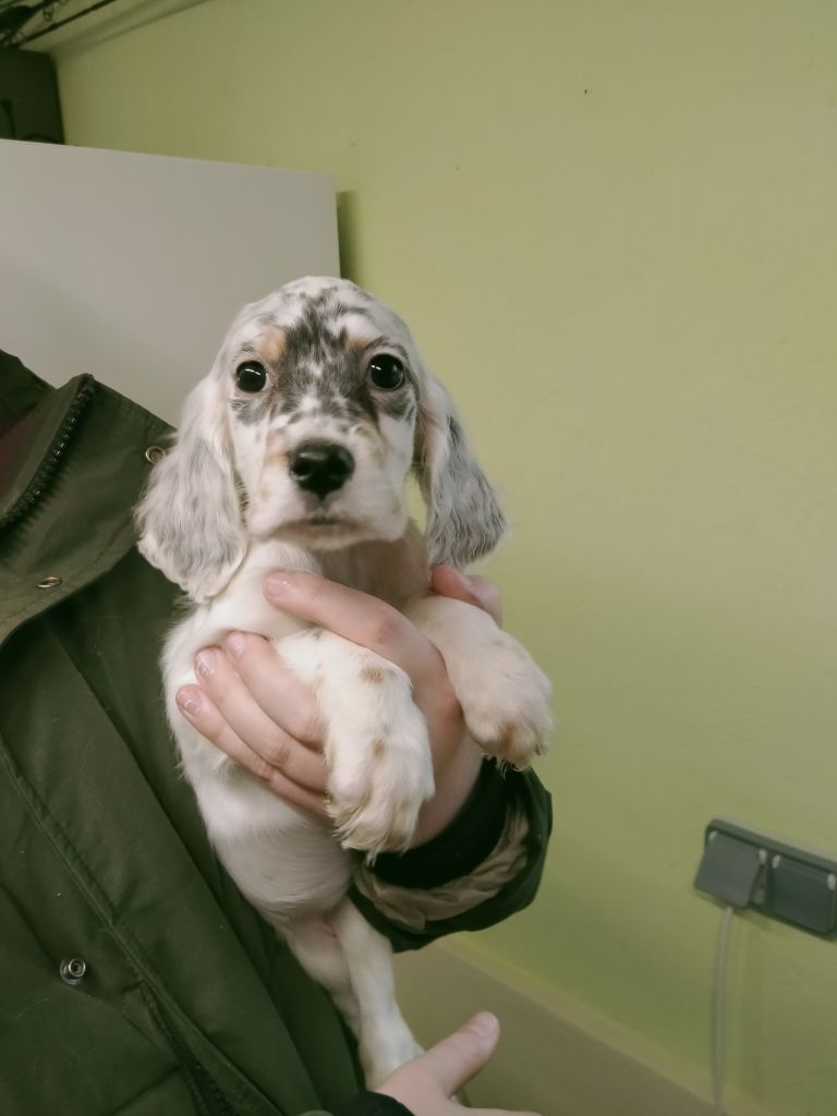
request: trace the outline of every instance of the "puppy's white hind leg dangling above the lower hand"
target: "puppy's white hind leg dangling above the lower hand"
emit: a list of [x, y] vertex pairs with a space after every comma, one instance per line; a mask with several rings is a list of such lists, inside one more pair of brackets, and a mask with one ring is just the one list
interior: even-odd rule
[[343, 946], [357, 999], [360, 1061], [366, 1085], [374, 1089], [398, 1066], [422, 1054], [422, 1048], [395, 1000], [393, 951], [387, 940], [349, 899], [344, 899], [328, 917]]

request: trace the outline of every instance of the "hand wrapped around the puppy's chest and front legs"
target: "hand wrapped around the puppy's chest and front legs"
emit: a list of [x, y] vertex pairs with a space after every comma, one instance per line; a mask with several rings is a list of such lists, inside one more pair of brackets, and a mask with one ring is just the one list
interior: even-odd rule
[[[483, 608], [499, 622], [500, 597], [485, 578], [440, 566], [431, 587]], [[334, 581], [277, 571], [266, 580], [264, 593], [278, 608], [369, 647], [407, 673], [413, 700], [427, 721], [436, 781], [413, 844], [430, 840], [468, 798], [482, 759], [465, 731], [439, 652], [397, 609]], [[327, 771], [316, 701], [272, 645], [235, 632], [222, 647], [203, 648], [195, 671], [200, 685], [183, 686], [177, 694], [184, 716], [277, 795], [325, 818]]]

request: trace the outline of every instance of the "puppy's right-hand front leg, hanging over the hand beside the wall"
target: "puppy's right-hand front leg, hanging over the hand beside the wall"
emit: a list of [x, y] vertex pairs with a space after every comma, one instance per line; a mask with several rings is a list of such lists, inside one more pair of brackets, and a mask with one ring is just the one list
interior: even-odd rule
[[468, 730], [488, 756], [526, 768], [546, 751], [551, 686], [517, 639], [449, 597], [422, 597], [405, 613], [442, 655]]

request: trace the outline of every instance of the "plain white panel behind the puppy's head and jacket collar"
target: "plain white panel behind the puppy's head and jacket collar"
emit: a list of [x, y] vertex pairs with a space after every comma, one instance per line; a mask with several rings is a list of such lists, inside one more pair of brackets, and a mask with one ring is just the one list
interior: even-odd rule
[[0, 141], [0, 348], [175, 422], [247, 301], [339, 270], [327, 175]]

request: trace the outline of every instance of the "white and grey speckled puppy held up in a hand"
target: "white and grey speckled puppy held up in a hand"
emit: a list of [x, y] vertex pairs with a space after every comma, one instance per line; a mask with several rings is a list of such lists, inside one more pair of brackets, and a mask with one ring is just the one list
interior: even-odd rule
[[[410, 522], [414, 470], [425, 536]], [[357, 858], [405, 848], [433, 795], [427, 725], [406, 674], [372, 651], [277, 613], [262, 580], [308, 570], [372, 593], [437, 647], [469, 731], [526, 767], [550, 731], [549, 684], [484, 613], [427, 591], [430, 564], [462, 566], [504, 530], [451, 402], [404, 323], [350, 282], [308, 278], [239, 314], [137, 509], [140, 549], [195, 607], [163, 674], [183, 770], [242, 892], [331, 993], [367, 1084], [419, 1048], [393, 991], [389, 945], [345, 897]], [[289, 806], [176, 709], [193, 658], [259, 633], [314, 689], [334, 826]]]

